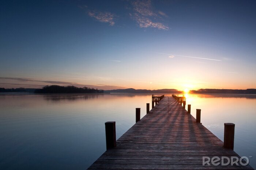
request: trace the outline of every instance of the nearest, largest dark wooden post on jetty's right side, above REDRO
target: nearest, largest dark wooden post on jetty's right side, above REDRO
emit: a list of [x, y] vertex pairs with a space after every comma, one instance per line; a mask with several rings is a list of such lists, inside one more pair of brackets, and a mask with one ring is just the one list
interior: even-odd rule
[[235, 124], [224, 123], [224, 148], [234, 150]]

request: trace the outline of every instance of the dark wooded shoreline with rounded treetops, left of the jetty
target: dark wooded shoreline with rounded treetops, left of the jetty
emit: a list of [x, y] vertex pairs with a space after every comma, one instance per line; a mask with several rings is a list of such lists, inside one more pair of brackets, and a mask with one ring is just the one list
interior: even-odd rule
[[103, 90], [98, 90], [97, 88], [88, 87], [75, 87], [75, 86], [44, 86], [41, 89], [36, 89], [35, 93], [102, 93]]

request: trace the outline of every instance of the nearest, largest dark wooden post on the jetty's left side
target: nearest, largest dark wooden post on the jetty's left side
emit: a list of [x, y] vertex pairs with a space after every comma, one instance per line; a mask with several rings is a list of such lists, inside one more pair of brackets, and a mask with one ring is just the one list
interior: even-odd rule
[[107, 150], [116, 146], [116, 122], [105, 122]]

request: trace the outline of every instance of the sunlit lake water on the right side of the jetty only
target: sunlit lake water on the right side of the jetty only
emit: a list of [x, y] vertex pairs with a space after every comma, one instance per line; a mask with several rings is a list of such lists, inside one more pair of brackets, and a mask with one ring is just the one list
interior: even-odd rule
[[[240, 94], [188, 94], [191, 114], [201, 109], [201, 122], [223, 141], [224, 123], [234, 123], [234, 151], [240, 156], [252, 156], [250, 165], [256, 167], [256, 95]], [[186, 106], [187, 109], [187, 106]]]

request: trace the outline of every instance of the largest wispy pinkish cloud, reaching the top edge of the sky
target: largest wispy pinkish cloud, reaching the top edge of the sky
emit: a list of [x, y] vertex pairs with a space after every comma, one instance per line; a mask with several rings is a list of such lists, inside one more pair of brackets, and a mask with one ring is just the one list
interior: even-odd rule
[[[169, 30], [169, 27], [160, 23], [153, 22], [152, 18], [157, 18], [158, 14], [153, 12], [151, 1], [150, 0], [136, 0], [133, 1], [133, 10], [134, 14], [130, 14], [130, 16], [136, 20], [141, 28], [153, 27], [160, 30]], [[164, 14], [163, 12], [160, 14]]]

